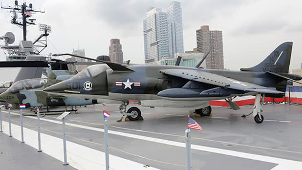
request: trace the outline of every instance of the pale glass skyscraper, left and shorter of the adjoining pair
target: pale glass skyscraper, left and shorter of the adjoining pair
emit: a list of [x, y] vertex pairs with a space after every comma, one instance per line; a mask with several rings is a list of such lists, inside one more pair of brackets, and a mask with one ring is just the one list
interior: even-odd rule
[[169, 56], [167, 13], [161, 8], [149, 7], [143, 25], [145, 63], [155, 64]]

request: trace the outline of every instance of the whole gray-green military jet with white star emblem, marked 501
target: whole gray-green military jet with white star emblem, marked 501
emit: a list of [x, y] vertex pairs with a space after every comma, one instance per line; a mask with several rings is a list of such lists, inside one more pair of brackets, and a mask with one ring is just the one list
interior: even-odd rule
[[[68, 97], [98, 99], [103, 103], [121, 103], [120, 112], [130, 120], [140, 118], [141, 106], [195, 109], [211, 113], [209, 101], [226, 99], [233, 109], [236, 96], [255, 95], [254, 120], [262, 123], [261, 95], [283, 97], [287, 81], [301, 80], [289, 74], [292, 42], [280, 44], [260, 64], [240, 71], [201, 69], [168, 65], [93, 65], [76, 76], [43, 89], [44, 92]], [[57, 54], [59, 56], [63, 54]], [[122, 117], [123, 118], [123, 117]]]

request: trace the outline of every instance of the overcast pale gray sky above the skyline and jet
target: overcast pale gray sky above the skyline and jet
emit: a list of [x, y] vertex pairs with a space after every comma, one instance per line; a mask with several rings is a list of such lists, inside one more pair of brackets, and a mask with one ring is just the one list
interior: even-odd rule
[[[14, 0], [1, 0], [13, 5]], [[290, 70], [302, 63], [301, 0], [178, 0], [181, 3], [185, 51], [196, 47], [196, 29], [210, 25], [223, 35], [224, 66], [231, 70], [261, 62], [279, 44], [293, 42]], [[23, 0], [19, 0], [21, 4]], [[167, 11], [171, 0], [31, 0], [36, 23], [49, 24], [48, 53], [85, 48], [87, 57], [108, 55], [110, 39], [121, 40], [124, 61], [144, 63], [143, 19], [149, 6]], [[16, 42], [22, 30], [10, 23], [7, 10], [0, 9], [0, 36], [11, 31]], [[38, 27], [28, 26], [28, 40], [39, 36]], [[4, 44], [0, 41], [0, 44]], [[0, 60], [5, 60], [0, 51]]]

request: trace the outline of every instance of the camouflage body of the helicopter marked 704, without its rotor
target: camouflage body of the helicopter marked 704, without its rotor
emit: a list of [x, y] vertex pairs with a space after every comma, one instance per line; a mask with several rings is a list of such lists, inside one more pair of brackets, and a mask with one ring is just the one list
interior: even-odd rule
[[26, 108], [35, 106], [85, 106], [97, 104], [97, 101], [92, 99], [49, 95], [43, 91], [32, 90], [43, 89], [71, 78], [76, 74], [77, 71], [53, 70], [50, 72], [48, 78], [20, 80], [1, 93], [0, 100], [12, 104], [13, 109], [18, 109], [22, 104]]

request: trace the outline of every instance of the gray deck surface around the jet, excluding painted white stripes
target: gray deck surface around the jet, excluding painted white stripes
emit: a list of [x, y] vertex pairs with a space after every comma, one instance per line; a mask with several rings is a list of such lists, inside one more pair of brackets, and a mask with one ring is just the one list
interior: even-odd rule
[[[111, 114], [108, 122], [109, 130], [185, 142], [184, 130], [187, 127], [188, 111], [140, 107], [144, 121], [116, 122], [121, 117], [118, 106], [105, 106]], [[71, 113], [67, 116], [67, 123], [103, 128], [102, 105], [78, 108], [78, 114]], [[240, 110], [213, 108], [212, 117], [192, 116], [203, 128], [203, 131], [192, 130], [192, 144], [302, 161], [302, 106], [271, 104], [264, 105], [263, 109], [265, 121], [262, 124], [256, 124], [252, 116], [240, 117], [242, 114], [250, 113], [252, 106]], [[4, 111], [7, 110], [2, 112], [3, 121], [7, 122], [8, 114]], [[19, 110], [13, 112], [19, 113]], [[23, 113], [30, 113], [30, 110], [23, 110]], [[43, 118], [55, 120], [57, 116], [47, 115]], [[12, 115], [12, 120], [13, 124], [19, 125], [20, 116]], [[24, 117], [23, 121], [24, 127], [36, 130], [35, 119]], [[41, 127], [42, 133], [62, 138], [60, 134], [62, 125], [41, 121]], [[66, 134], [72, 136], [72, 138], [67, 136], [68, 141], [100, 151], [105, 150], [103, 146], [98, 145], [104, 144], [102, 132], [67, 126]], [[185, 169], [179, 166], [185, 166], [185, 148], [115, 134], [109, 134], [109, 146], [132, 155], [115, 149], [109, 149], [110, 154], [144, 165], [162, 170]], [[0, 152], [3, 152], [0, 154], [1, 170], [2, 165], [5, 167], [3, 170], [73, 169], [70, 166], [62, 166], [61, 161], [44, 153], [38, 153], [26, 143], [20, 144], [20, 141], [9, 138], [3, 133], [0, 133]], [[270, 170], [277, 164], [192, 149], [192, 165], [199, 170]]]

